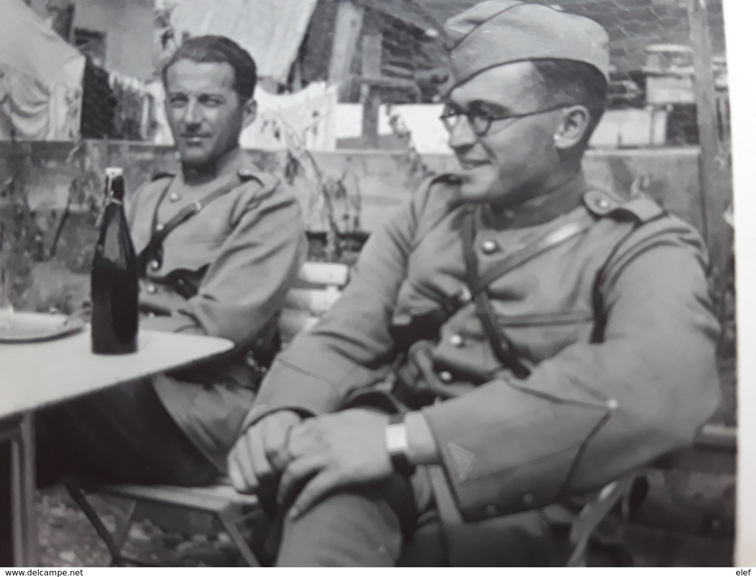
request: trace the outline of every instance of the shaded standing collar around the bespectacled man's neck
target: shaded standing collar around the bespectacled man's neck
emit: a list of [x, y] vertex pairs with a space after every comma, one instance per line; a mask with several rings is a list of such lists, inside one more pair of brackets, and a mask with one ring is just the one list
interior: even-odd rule
[[485, 205], [482, 219], [485, 225], [492, 228], [542, 225], [574, 210], [590, 188], [582, 172], [579, 172], [559, 187], [539, 192], [523, 203], [497, 208]]

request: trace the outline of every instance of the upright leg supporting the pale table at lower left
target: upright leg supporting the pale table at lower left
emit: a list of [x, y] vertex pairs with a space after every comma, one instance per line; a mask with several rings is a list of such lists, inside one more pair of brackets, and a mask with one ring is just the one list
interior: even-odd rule
[[21, 417], [19, 434], [11, 445], [13, 543], [16, 566], [37, 565], [35, 465], [34, 414], [29, 411]]

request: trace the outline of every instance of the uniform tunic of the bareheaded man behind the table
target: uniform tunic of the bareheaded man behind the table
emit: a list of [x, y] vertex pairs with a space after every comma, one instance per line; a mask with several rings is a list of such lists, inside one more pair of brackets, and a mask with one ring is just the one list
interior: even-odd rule
[[[140, 252], [184, 206], [222, 187], [230, 189], [166, 237], [140, 292], [143, 309], [167, 313], [142, 318], [142, 327], [225, 337], [236, 345], [239, 355], [230, 361], [154, 379], [166, 410], [219, 470], [254, 399], [243, 352], [273, 337], [306, 256], [299, 203], [237, 149], [222, 159], [215, 178], [200, 185], [187, 185], [182, 175], [156, 178], [135, 192], [128, 209]], [[166, 284], [179, 270], [201, 278], [196, 296], [186, 299]]]

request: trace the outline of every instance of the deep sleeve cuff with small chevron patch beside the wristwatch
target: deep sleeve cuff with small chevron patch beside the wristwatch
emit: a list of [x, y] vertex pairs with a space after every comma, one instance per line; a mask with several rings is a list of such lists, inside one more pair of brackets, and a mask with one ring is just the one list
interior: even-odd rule
[[423, 410], [466, 521], [562, 496], [582, 446], [608, 414], [606, 407], [552, 402], [504, 383]]

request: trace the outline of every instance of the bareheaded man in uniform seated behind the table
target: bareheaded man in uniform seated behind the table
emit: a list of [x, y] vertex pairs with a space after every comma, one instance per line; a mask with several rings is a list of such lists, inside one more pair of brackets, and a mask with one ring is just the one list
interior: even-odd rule
[[40, 411], [40, 486], [64, 476], [202, 485], [225, 473], [305, 258], [299, 203], [239, 146], [256, 117], [252, 57], [224, 37], [189, 39], [163, 81], [181, 171], [127, 206], [144, 265], [141, 327], [225, 337], [234, 352]]

